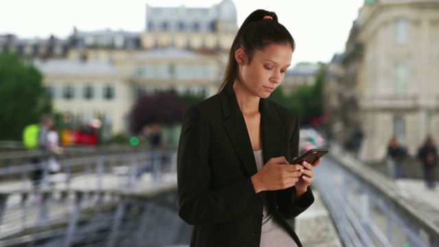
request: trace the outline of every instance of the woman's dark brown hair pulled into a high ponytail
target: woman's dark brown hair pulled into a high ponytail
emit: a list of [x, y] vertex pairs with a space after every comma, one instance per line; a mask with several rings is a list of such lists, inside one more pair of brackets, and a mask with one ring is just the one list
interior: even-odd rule
[[[264, 16], [271, 16], [272, 19], [264, 19]], [[219, 85], [218, 92], [222, 91], [228, 84], [235, 82], [238, 76], [238, 62], [235, 59], [237, 49], [242, 48], [246, 51], [248, 63], [250, 63], [255, 51], [263, 50], [272, 44], [291, 45], [293, 51], [296, 49], [294, 38], [285, 26], [278, 23], [276, 13], [267, 10], [254, 10], [239, 27], [235, 40], [233, 40], [224, 78]]]

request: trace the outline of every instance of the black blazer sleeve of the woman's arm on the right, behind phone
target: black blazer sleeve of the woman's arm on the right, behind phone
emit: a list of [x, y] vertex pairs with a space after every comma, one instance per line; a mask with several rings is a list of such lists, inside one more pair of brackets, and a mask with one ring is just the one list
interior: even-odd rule
[[[296, 123], [296, 127], [292, 130], [292, 137], [289, 139], [289, 154], [291, 158], [298, 157], [298, 147], [299, 147], [299, 136], [300, 136], [300, 121], [295, 115], [295, 119], [292, 123]], [[311, 187], [308, 187], [307, 192], [305, 192], [299, 200], [294, 200], [296, 194], [296, 188], [291, 187], [288, 189], [283, 189], [277, 191], [276, 202], [279, 212], [285, 217], [285, 219], [291, 219], [300, 215], [313, 204], [314, 196], [311, 191]]]

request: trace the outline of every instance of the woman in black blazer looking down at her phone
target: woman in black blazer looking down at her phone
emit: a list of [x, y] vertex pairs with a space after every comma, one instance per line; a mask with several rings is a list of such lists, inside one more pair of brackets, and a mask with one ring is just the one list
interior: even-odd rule
[[255, 10], [233, 41], [219, 93], [185, 113], [178, 196], [180, 217], [194, 225], [191, 246], [301, 246], [285, 219], [313, 203], [320, 160], [289, 165], [298, 117], [266, 99], [294, 47], [274, 12]]

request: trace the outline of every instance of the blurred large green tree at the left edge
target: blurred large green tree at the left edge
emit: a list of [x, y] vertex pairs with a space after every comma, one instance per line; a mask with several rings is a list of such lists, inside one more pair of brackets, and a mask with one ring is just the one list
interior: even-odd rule
[[0, 54], [0, 140], [21, 141], [25, 126], [51, 113], [42, 79], [31, 62], [13, 53]]

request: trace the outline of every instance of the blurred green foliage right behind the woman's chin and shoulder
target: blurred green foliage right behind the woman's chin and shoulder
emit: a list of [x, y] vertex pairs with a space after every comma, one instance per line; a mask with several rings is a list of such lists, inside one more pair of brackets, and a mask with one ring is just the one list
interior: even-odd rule
[[323, 108], [324, 66], [318, 71], [316, 82], [299, 86], [294, 93], [285, 95], [281, 87], [276, 89], [270, 99], [285, 106], [300, 118], [300, 124], [311, 124], [313, 117], [320, 117]]

